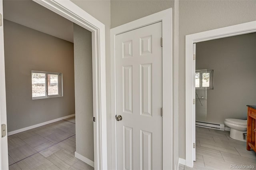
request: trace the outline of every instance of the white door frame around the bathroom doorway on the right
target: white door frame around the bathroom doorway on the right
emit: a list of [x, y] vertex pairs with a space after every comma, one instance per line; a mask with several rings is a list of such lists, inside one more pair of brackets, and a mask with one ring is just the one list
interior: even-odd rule
[[193, 167], [193, 135], [195, 132], [193, 116], [193, 79], [195, 78], [195, 69], [193, 69], [193, 43], [204, 42], [208, 40], [215, 40], [218, 38], [225, 38], [237, 36], [241, 34], [248, 34], [256, 32], [256, 21], [246, 22], [234, 26], [218, 28], [196, 34], [186, 36], [186, 53], [185, 53], [185, 68], [186, 68], [186, 166]]

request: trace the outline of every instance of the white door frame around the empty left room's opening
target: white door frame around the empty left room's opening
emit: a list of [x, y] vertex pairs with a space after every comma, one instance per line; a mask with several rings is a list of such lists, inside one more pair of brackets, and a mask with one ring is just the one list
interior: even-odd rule
[[[94, 168], [107, 169], [107, 131], [106, 131], [106, 62], [105, 62], [105, 25], [76, 6], [70, 0], [33, 0], [60, 16], [92, 32], [92, 77], [93, 77], [93, 114], [94, 123]], [[2, 8], [2, 0], [0, 0]], [[3, 26], [0, 27], [3, 29]], [[0, 43], [4, 43], [0, 35]], [[6, 91], [4, 71], [4, 49], [0, 49], [0, 123], [6, 124]], [[6, 137], [7, 138], [7, 135]], [[1, 141], [1, 140], [0, 140]], [[0, 148], [0, 169], [8, 169], [8, 144], [3, 140]]]

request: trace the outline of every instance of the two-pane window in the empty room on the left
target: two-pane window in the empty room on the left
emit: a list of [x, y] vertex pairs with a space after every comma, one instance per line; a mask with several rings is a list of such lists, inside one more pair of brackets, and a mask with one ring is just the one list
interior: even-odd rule
[[32, 99], [61, 97], [62, 73], [31, 71]]

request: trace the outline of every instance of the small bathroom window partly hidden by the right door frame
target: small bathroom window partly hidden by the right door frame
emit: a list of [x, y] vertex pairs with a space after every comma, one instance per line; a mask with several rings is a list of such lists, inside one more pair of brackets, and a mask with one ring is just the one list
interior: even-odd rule
[[196, 70], [196, 89], [213, 89], [213, 70]]

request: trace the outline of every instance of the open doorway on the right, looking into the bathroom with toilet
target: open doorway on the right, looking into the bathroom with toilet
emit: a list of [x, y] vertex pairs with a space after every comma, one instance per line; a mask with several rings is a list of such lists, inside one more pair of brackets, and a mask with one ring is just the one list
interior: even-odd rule
[[[246, 105], [256, 103], [255, 44], [256, 33], [196, 43], [194, 167], [255, 166], [256, 154], [245, 147]], [[236, 134], [230, 121], [238, 127]]]

